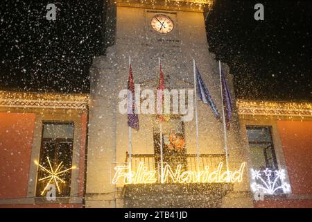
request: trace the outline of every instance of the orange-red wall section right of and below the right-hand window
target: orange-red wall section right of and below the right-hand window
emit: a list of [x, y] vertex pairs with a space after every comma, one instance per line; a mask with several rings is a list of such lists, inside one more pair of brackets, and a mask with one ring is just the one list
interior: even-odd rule
[[254, 201], [255, 207], [311, 208], [312, 207], [312, 121], [277, 120], [283, 148], [291, 199]]

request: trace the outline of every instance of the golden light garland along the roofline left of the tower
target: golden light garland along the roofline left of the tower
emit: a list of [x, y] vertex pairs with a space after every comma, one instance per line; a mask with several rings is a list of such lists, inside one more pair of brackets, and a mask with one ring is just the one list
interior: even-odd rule
[[0, 91], [0, 107], [5, 108], [61, 108], [85, 110], [88, 94], [60, 94]]

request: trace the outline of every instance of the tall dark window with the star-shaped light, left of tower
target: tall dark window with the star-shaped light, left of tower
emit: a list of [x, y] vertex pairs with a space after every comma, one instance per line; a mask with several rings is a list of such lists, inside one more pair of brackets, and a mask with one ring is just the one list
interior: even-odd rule
[[[71, 161], [73, 156], [73, 123], [43, 123], [36, 196], [46, 194], [47, 185], [55, 186], [56, 196], [69, 196], [71, 185]], [[51, 177], [53, 172], [62, 172]]]

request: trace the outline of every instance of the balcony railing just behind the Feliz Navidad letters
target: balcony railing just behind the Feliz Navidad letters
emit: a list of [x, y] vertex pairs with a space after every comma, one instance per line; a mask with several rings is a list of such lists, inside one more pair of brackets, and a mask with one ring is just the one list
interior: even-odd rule
[[[148, 171], [157, 171], [160, 169], [160, 155], [155, 154], [132, 154], [131, 155], [131, 169], [135, 171], [140, 162], [144, 162], [144, 166]], [[126, 153], [125, 162], [129, 162], [129, 153]], [[200, 171], [203, 171], [205, 167], [209, 167], [210, 170], [218, 169], [218, 164], [223, 162], [225, 166], [225, 155], [223, 154], [200, 154], [199, 164], [196, 154], [184, 154], [184, 155], [171, 155], [163, 156], [163, 164], [170, 164], [171, 167], [182, 164], [182, 167], [187, 171], [197, 171], [198, 167]]]

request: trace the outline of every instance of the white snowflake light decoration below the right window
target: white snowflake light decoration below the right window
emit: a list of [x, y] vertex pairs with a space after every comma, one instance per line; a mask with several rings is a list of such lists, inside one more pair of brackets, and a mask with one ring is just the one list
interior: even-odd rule
[[250, 187], [255, 193], [262, 191], [263, 194], [277, 194], [278, 190], [282, 190], [284, 194], [291, 191], [291, 185], [285, 182], [286, 173], [284, 169], [272, 171], [265, 169], [263, 171], [251, 169], [251, 183]]

